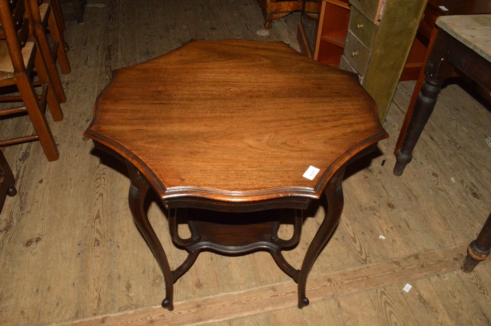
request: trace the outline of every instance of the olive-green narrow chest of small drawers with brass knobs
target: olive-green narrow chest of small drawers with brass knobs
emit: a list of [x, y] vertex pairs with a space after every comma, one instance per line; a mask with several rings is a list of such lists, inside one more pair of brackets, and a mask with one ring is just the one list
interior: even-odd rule
[[426, 0], [350, 0], [352, 5], [339, 68], [359, 75], [385, 119]]

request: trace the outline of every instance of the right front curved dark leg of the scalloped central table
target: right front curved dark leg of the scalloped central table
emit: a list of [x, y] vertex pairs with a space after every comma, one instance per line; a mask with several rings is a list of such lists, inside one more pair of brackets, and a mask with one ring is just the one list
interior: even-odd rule
[[305, 253], [305, 258], [303, 258], [302, 267], [300, 269], [298, 282], [298, 307], [300, 309], [309, 304], [305, 295], [305, 288], [310, 269], [312, 268], [312, 265], [314, 265], [314, 261], [319, 255], [319, 252], [327, 243], [327, 240], [329, 240], [332, 231], [334, 231], [334, 228], [337, 226], [339, 218], [341, 217], [341, 212], [343, 211], [344, 198], [341, 182], [343, 181], [345, 168], [346, 165], [339, 168], [336, 174], [332, 176], [329, 183], [327, 183], [326, 189], [324, 190], [327, 197], [327, 213]]

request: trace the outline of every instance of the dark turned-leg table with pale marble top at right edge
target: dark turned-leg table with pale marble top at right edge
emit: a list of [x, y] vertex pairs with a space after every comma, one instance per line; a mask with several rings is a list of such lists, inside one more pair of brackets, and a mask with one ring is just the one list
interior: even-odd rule
[[[439, 30], [426, 65], [426, 79], [409, 122], [408, 133], [397, 151], [394, 174], [401, 176], [435, 107], [443, 81], [455, 68], [491, 92], [491, 15], [446, 16], [436, 20]], [[470, 273], [490, 254], [491, 214], [467, 250], [462, 270]]]

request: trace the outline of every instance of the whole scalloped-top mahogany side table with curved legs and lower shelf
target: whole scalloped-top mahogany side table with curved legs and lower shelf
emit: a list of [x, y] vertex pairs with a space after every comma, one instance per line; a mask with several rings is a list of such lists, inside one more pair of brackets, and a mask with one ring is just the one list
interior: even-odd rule
[[[84, 135], [126, 162], [130, 209], [164, 274], [169, 310], [173, 283], [203, 249], [270, 251], [298, 283], [299, 308], [307, 305], [307, 276], [343, 208], [345, 167], [388, 137], [355, 74], [281, 42], [245, 40], [191, 41], [114, 71]], [[173, 242], [189, 252], [173, 271], [144, 210], [150, 188], [169, 209]], [[281, 251], [298, 243], [302, 210], [323, 193], [326, 217], [297, 270]], [[285, 209], [291, 239], [277, 235]]]

